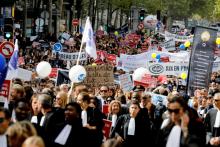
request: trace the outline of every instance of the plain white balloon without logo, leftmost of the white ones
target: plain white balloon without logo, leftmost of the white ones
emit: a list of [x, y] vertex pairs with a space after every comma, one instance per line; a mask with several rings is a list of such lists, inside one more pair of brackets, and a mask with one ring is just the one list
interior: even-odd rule
[[50, 63], [46, 61], [41, 61], [40, 63], [38, 63], [36, 71], [40, 78], [45, 78], [49, 76], [49, 74], [52, 71], [52, 68], [51, 68]]

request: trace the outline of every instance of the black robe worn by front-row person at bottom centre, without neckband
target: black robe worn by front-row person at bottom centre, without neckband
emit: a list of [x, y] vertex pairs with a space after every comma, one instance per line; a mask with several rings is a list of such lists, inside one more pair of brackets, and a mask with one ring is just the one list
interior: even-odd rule
[[151, 135], [150, 120], [147, 110], [142, 109], [135, 118], [135, 134], [128, 135], [128, 126], [131, 117], [129, 114], [121, 115], [116, 122], [116, 126], [110, 134], [110, 137], [120, 135], [124, 142], [123, 147], [151, 147], [153, 146], [153, 136]]

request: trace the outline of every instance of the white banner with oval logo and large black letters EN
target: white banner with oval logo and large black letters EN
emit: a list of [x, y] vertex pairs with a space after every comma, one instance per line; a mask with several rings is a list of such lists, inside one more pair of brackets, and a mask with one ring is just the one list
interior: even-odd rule
[[180, 76], [181, 73], [188, 72], [189, 63], [150, 63], [147, 64], [147, 69], [151, 75], [173, 75]]

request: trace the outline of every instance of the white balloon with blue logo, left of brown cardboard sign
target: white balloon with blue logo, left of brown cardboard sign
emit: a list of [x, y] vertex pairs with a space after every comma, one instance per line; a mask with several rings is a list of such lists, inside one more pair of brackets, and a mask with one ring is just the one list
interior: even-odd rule
[[81, 65], [73, 66], [69, 71], [69, 78], [74, 83], [80, 83], [86, 78], [86, 70]]

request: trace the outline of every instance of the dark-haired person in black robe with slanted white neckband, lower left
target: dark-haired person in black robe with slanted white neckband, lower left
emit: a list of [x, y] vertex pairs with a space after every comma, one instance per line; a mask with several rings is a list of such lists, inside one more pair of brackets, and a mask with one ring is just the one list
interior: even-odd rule
[[[70, 131], [62, 134], [64, 128], [69, 126]], [[65, 122], [56, 125], [54, 128], [54, 147], [84, 147], [84, 130], [81, 120], [81, 107], [76, 102], [71, 102], [65, 108]], [[60, 139], [61, 141], [60, 141]]]

